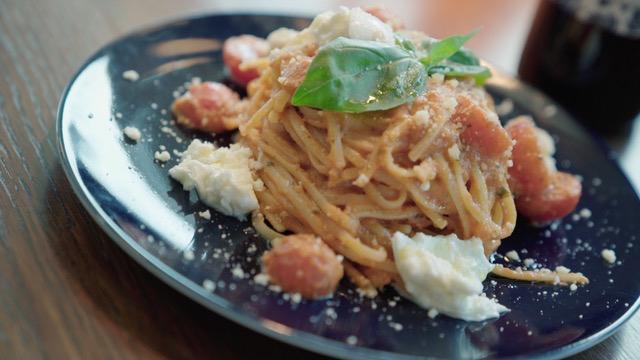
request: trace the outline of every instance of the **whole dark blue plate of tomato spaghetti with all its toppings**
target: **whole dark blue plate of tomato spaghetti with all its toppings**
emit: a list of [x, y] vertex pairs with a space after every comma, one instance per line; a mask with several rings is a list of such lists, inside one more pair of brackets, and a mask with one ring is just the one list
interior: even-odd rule
[[560, 358], [637, 309], [640, 202], [539, 92], [382, 8], [208, 15], [101, 49], [61, 159], [152, 273], [342, 358]]

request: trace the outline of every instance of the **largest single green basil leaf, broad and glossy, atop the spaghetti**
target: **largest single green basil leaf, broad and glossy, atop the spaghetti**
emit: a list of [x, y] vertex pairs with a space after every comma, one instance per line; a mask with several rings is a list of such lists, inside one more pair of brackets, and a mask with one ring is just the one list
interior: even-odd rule
[[426, 69], [409, 51], [337, 38], [311, 62], [291, 104], [337, 112], [386, 110], [425, 91]]

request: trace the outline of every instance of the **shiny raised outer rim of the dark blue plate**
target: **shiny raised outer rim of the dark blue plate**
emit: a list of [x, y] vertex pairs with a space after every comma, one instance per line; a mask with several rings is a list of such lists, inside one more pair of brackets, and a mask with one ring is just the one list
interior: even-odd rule
[[[187, 298], [195, 301], [196, 303], [204, 306], [210, 311], [213, 311], [217, 315], [233, 321], [234, 323], [248, 328], [260, 335], [268, 336], [271, 339], [281, 341], [285, 344], [297, 347], [299, 349], [312, 351], [321, 355], [328, 355], [340, 359], [424, 359], [425, 356], [418, 355], [410, 355], [410, 354], [402, 354], [397, 352], [390, 352], [386, 350], [378, 350], [372, 349], [368, 347], [362, 346], [352, 346], [348, 345], [345, 342], [341, 342], [338, 340], [333, 340], [329, 338], [325, 338], [323, 336], [319, 336], [310, 332], [305, 332], [301, 330], [297, 330], [291, 327], [284, 325], [288, 330], [289, 334], [282, 334], [278, 331], [275, 331], [268, 326], [263, 324], [264, 318], [260, 318], [258, 316], [254, 316], [246, 313], [242, 309], [239, 309], [235, 304], [223, 299], [222, 297], [216, 295], [215, 293], [209, 293], [204, 290], [200, 285], [196, 284], [194, 281], [188, 279], [184, 275], [180, 274], [176, 270], [174, 270], [169, 265], [163, 263], [156, 256], [147, 251], [144, 247], [138, 244], [131, 236], [129, 236], [126, 232], [119, 227], [113, 219], [111, 219], [106, 212], [100, 207], [100, 205], [95, 201], [92, 196], [92, 193], [86, 188], [85, 183], [80, 181], [79, 174], [77, 172], [77, 166], [72, 164], [70, 158], [67, 154], [67, 144], [64, 138], [64, 109], [67, 102], [67, 97], [69, 95], [69, 91], [75, 84], [78, 77], [84, 72], [84, 70], [89, 66], [93, 61], [95, 61], [106, 49], [115, 46], [122, 41], [125, 41], [134, 36], [140, 36], [145, 33], [150, 33], [154, 31], [161, 30], [168, 26], [177, 25], [181, 22], [191, 22], [194, 20], [200, 20], [205, 18], [216, 18], [216, 17], [235, 17], [235, 16], [250, 16], [250, 17], [283, 17], [283, 18], [292, 18], [292, 19], [305, 19], [309, 20], [308, 14], [296, 14], [296, 13], [273, 13], [273, 12], [234, 12], [234, 11], [215, 11], [215, 12], [204, 12], [198, 13], [195, 15], [186, 16], [177, 16], [164, 18], [161, 21], [152, 23], [150, 25], [146, 25], [137, 29], [133, 29], [123, 35], [115, 37], [113, 40], [108, 41], [103, 45], [99, 45], [98, 50], [96, 50], [92, 55], [86, 58], [82, 62], [82, 65], [74, 72], [74, 74], [69, 79], [67, 85], [64, 87], [60, 100], [58, 102], [58, 107], [56, 111], [56, 123], [55, 123], [55, 136], [56, 136], [56, 148], [58, 151], [58, 156], [60, 160], [60, 165], [63, 169], [63, 172], [71, 185], [71, 189], [75, 196], [80, 200], [80, 203], [84, 207], [84, 209], [89, 213], [91, 218], [99, 225], [99, 227], [108, 235], [108, 237], [115, 242], [128, 256], [130, 256], [136, 263], [141, 265], [144, 269], [149, 271], [151, 274], [156, 276], [158, 279], [163, 281], [165, 284], [169, 285], [173, 290], [178, 291], [183, 294]], [[532, 87], [524, 83], [522, 80], [517, 77], [512, 77], [506, 75], [504, 72], [496, 69], [494, 66], [490, 66], [493, 72], [493, 80], [500, 79], [503, 81], [509, 81], [515, 85], [509, 91], [516, 92], [527, 92], [534, 94], [540, 99], [544, 101], [546, 104], [554, 105], [559, 114], [570, 118], [572, 125], [575, 125], [580, 128], [580, 130], [584, 131], [588, 134], [589, 138], [593, 143], [597, 144], [600, 147], [600, 151], [602, 151], [605, 156], [608, 156], [609, 148], [604, 143], [602, 139], [596, 136], [592, 131], [586, 129], [582, 124], [579, 124], [575, 117], [569, 115], [567, 111], [564, 110], [562, 106], [548, 97], [546, 94], [542, 93], [540, 90]], [[487, 85], [492, 85], [492, 81], [489, 80]], [[493, 84], [494, 86], [498, 86]], [[619, 171], [627, 181], [627, 184], [634, 189], [625, 173], [622, 171], [618, 162], [609, 158], [609, 161], [615, 166], [617, 171]], [[640, 201], [638, 198], [639, 194], [636, 192], [636, 201]], [[526, 356], [528, 359], [560, 359], [564, 357], [568, 357], [574, 354], [577, 354], [581, 351], [587, 350], [603, 340], [607, 339], [611, 335], [613, 335], [617, 330], [620, 329], [621, 325], [627, 322], [640, 308], [640, 297], [638, 297], [635, 302], [629, 306], [629, 309], [624, 312], [622, 316], [620, 316], [616, 321], [609, 324], [607, 327], [601, 329], [597, 333], [582, 339], [580, 341], [570, 343], [568, 345], [561, 346], [556, 349], [537, 352], [527, 355], [516, 355], [513, 357], [507, 358], [522, 358]], [[268, 319], [267, 319], [268, 320]], [[302, 341], [300, 341], [302, 339]], [[430, 359], [435, 359], [434, 357], [427, 357]]]

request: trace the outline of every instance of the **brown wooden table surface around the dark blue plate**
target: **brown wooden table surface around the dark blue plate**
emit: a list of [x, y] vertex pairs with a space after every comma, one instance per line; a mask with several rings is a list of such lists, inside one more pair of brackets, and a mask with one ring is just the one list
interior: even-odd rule
[[[515, 72], [536, 1], [463, 2], [403, 2], [398, 12], [434, 35], [485, 24], [471, 47]], [[100, 46], [169, 18], [264, 3], [0, 0], [0, 358], [320, 358], [213, 314], [138, 266], [78, 202], [56, 152], [63, 87]], [[360, 2], [305, 3], [272, 0], [267, 10]], [[578, 358], [637, 358], [639, 339], [640, 315]]]

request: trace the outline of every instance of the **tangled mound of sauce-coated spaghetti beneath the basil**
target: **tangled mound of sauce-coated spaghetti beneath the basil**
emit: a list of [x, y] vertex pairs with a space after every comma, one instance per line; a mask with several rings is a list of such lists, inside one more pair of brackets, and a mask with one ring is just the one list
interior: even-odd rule
[[254, 174], [265, 184], [256, 193], [260, 209], [254, 214], [265, 237], [276, 237], [273, 231], [317, 234], [346, 258], [350, 278], [370, 288], [363, 279], [368, 269], [389, 273], [389, 279], [396, 273], [395, 231], [476, 236], [487, 254], [511, 234], [510, 147], [483, 156], [461, 141], [464, 124], [452, 121], [461, 116], [457, 97], [491, 111], [482, 89], [434, 76], [425, 95], [392, 110], [296, 108], [278, 79], [283, 64], [297, 55], [282, 52], [261, 69], [248, 88], [240, 125], [238, 141], [259, 159]]

